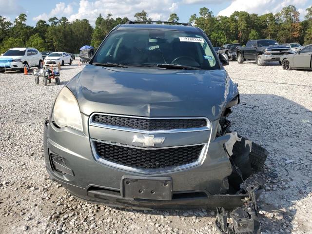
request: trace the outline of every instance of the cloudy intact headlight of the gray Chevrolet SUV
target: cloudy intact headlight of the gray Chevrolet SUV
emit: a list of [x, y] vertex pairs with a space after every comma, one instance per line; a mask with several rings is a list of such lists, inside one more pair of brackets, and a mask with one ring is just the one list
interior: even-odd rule
[[82, 131], [82, 120], [78, 102], [73, 93], [64, 87], [55, 101], [53, 121], [60, 127], [71, 127]]

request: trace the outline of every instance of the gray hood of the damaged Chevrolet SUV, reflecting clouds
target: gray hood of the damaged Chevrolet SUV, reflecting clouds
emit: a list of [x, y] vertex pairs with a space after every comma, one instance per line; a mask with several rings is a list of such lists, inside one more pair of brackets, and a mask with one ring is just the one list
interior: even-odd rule
[[80, 111], [144, 117], [220, 117], [238, 94], [224, 69], [167, 70], [87, 65], [67, 85]]

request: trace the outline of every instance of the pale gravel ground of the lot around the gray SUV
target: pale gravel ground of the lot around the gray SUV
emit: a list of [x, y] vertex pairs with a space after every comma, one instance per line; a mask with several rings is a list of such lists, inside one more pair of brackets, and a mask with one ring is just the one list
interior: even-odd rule
[[[61, 85], [0, 74], [0, 233], [216, 233], [215, 212], [135, 211], [81, 202], [45, 171], [42, 134], [56, 94], [83, 65], [61, 71]], [[259, 197], [263, 233], [312, 233], [312, 72], [230, 62], [241, 104], [233, 130], [269, 152]], [[278, 174], [271, 179], [270, 172]]]

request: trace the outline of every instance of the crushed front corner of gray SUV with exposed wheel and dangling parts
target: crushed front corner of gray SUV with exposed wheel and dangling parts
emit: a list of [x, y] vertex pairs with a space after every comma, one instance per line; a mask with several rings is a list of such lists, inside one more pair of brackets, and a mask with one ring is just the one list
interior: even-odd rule
[[232, 102], [223, 112], [216, 133], [216, 137], [229, 135], [223, 147], [233, 171], [228, 177], [230, 189], [225, 195], [232, 209], [217, 207], [215, 226], [221, 234], [259, 234], [261, 224], [257, 216], [256, 199], [262, 192], [264, 180], [254, 181], [251, 177], [261, 169], [269, 153], [260, 145], [230, 130], [231, 122], [227, 117], [235, 104], [237, 102]]

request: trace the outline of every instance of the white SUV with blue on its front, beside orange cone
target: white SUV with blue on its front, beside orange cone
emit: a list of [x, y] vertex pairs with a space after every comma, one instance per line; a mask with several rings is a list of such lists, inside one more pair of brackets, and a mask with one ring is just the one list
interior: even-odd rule
[[43, 67], [43, 59], [40, 52], [35, 48], [11, 48], [0, 56], [0, 72], [27, 71], [30, 67]]

